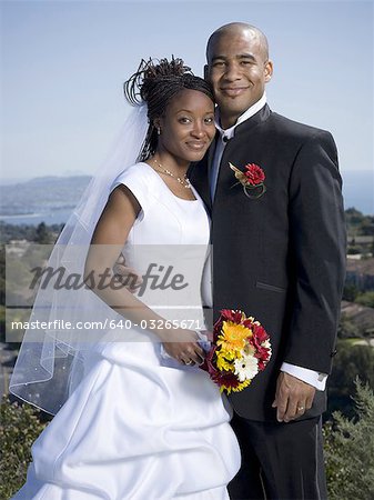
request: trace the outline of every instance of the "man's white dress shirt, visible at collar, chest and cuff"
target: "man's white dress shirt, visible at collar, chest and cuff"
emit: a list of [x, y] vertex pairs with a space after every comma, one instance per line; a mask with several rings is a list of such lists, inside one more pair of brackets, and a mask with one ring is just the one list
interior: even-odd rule
[[[212, 169], [210, 172], [210, 191], [211, 191], [211, 199], [214, 200], [215, 194], [215, 188], [216, 188], [216, 181], [219, 178], [219, 170], [221, 164], [222, 154], [224, 151], [224, 148], [226, 147], [226, 143], [230, 139], [234, 137], [235, 128], [242, 123], [243, 121], [247, 120], [249, 118], [253, 117], [256, 112], [259, 112], [266, 103], [266, 94], [264, 93], [262, 98], [255, 102], [253, 106], [251, 106], [243, 114], [241, 114], [236, 123], [230, 127], [230, 129], [222, 129], [220, 124], [220, 114], [216, 109], [215, 112], [215, 127], [218, 131], [220, 132], [220, 137], [216, 138], [215, 141], [215, 150], [214, 150], [214, 157], [213, 157], [213, 163]], [[296, 367], [295, 364], [290, 363], [282, 363], [281, 371], [284, 371], [285, 373], [289, 373], [293, 377], [296, 377], [297, 379], [302, 380], [303, 382], [309, 383], [310, 386], [315, 387], [319, 391], [323, 391], [326, 387], [326, 380], [327, 374], [326, 373], [319, 373], [317, 371], [310, 370], [309, 368], [303, 367]]]

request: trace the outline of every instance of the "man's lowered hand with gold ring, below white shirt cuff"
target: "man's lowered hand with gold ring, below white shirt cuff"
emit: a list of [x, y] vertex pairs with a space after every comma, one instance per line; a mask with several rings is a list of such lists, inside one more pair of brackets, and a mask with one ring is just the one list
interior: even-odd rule
[[272, 404], [273, 408], [276, 408], [277, 421], [290, 422], [304, 414], [312, 408], [314, 394], [313, 386], [281, 371]]

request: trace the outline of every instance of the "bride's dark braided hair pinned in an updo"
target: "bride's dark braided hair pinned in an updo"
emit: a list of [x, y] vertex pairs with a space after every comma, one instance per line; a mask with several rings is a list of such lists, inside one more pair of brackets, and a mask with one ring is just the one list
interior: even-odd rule
[[202, 78], [195, 77], [182, 59], [174, 57], [170, 61], [142, 59], [138, 71], [123, 83], [124, 97], [130, 104], [148, 104], [150, 124], [138, 161], [144, 161], [154, 154], [158, 147], [154, 120], [164, 116], [172, 98], [183, 89], [198, 90], [214, 100], [211, 86]]

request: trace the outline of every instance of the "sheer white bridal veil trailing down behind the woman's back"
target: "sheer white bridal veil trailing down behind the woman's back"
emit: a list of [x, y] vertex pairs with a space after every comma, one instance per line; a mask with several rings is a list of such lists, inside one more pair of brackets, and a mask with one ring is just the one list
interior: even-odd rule
[[[61, 232], [48, 267], [63, 269], [67, 276], [82, 277], [94, 227], [108, 201], [113, 181], [137, 162], [145, 140], [149, 121], [146, 104], [134, 107], [125, 120], [108, 159], [85, 189], [78, 207]], [[9, 390], [18, 398], [55, 414], [89, 367], [89, 349], [105, 333], [103, 316], [117, 313], [91, 290], [55, 287], [57, 278], [40, 288], [29, 322], [47, 328], [29, 328], [10, 380]], [[103, 311], [105, 311], [103, 313]], [[98, 328], [74, 326], [98, 321]], [[110, 318], [109, 318], [110, 320]], [[73, 328], [67, 329], [67, 322]]]

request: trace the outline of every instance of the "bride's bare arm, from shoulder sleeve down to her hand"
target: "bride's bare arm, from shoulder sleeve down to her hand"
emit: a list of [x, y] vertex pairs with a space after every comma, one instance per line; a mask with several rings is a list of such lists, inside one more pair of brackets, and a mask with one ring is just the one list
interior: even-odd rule
[[195, 332], [160, 328], [166, 324], [166, 320], [137, 299], [124, 286], [120, 287], [114, 279], [113, 267], [140, 210], [137, 198], [125, 186], [121, 184], [112, 191], [93, 232], [84, 279], [92, 291], [118, 313], [135, 324], [146, 321], [149, 330], [160, 338], [170, 356], [200, 363], [204, 354], [195, 341]]

